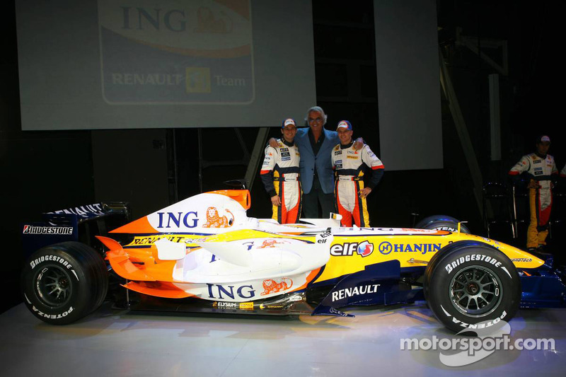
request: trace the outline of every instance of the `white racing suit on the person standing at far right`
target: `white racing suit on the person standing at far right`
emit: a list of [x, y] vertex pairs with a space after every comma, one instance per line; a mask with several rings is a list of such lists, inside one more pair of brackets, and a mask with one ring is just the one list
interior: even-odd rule
[[529, 207], [531, 209], [531, 222], [526, 236], [527, 248], [538, 248], [546, 245], [548, 236], [548, 220], [550, 210], [553, 206], [552, 182], [550, 175], [558, 174], [553, 156], [547, 154], [540, 157], [531, 153], [521, 157], [518, 163], [509, 170], [509, 175], [514, 182], [519, 180], [519, 175], [525, 174], [529, 182], [538, 182], [538, 188], [529, 189]]

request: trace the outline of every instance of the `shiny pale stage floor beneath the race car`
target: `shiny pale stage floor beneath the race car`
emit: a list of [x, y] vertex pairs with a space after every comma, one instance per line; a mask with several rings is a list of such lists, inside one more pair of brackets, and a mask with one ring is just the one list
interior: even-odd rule
[[1, 376], [565, 376], [566, 309], [519, 311], [512, 339], [553, 338], [555, 351], [500, 350], [449, 367], [402, 338], [453, 338], [424, 303], [354, 308], [355, 318], [140, 315], [103, 306], [66, 326], [21, 303], [0, 315]]

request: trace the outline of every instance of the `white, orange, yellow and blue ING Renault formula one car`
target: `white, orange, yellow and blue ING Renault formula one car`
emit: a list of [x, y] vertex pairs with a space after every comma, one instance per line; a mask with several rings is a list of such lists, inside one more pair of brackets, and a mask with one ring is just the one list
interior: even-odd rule
[[550, 260], [463, 233], [451, 218], [423, 228], [282, 225], [246, 216], [249, 206], [247, 190], [208, 192], [97, 236], [107, 251], [40, 248], [23, 270], [25, 304], [47, 323], [79, 320], [107, 298], [110, 270], [126, 307], [144, 310], [350, 316], [339, 309], [425, 299], [459, 331], [509, 320], [519, 306], [565, 306]]

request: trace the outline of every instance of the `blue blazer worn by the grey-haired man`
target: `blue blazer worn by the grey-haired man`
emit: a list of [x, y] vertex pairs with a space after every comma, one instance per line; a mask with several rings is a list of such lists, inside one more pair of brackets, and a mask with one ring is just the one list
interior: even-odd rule
[[305, 194], [311, 192], [314, 168], [316, 166], [320, 186], [325, 194], [330, 194], [334, 192], [334, 170], [330, 156], [336, 144], [340, 144], [338, 133], [323, 128], [324, 141], [318, 150], [318, 154], [315, 156], [311, 141], [308, 139], [308, 130], [309, 127], [299, 128], [295, 135], [295, 144], [299, 146], [299, 153], [301, 153], [301, 161], [299, 161], [301, 187]]

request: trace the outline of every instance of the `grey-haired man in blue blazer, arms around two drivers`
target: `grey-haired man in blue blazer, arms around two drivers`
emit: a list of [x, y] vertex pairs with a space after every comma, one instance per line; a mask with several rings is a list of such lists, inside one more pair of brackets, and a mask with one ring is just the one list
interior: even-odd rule
[[[340, 139], [335, 131], [323, 126], [328, 116], [320, 106], [313, 106], [306, 112], [308, 128], [297, 129], [295, 144], [299, 146], [301, 161], [301, 187], [303, 189], [303, 218], [318, 219], [318, 203], [322, 208], [322, 218], [328, 219], [330, 212], [336, 212], [334, 201], [334, 170], [330, 156]], [[270, 145], [277, 143], [270, 139]], [[356, 140], [354, 149], [364, 146], [362, 138]]]

